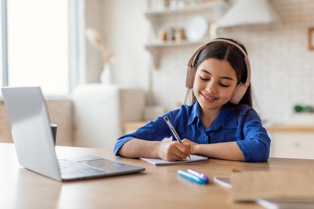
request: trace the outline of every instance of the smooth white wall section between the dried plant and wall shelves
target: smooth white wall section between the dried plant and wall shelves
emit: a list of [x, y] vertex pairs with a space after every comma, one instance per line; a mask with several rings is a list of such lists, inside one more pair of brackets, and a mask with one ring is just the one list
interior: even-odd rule
[[148, 86], [149, 55], [144, 49], [149, 25], [143, 18], [145, 0], [110, 0], [103, 4], [103, 29], [115, 62], [115, 80], [122, 87]]

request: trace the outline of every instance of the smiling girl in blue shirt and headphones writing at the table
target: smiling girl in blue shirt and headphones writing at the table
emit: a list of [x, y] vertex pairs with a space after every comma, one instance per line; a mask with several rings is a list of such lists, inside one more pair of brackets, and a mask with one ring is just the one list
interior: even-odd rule
[[[117, 139], [115, 155], [167, 161], [191, 153], [238, 161], [268, 159], [270, 139], [252, 108], [250, 64], [242, 44], [219, 38], [202, 45], [189, 61], [186, 86], [189, 104]], [[175, 137], [162, 141], [172, 136], [165, 116], [183, 144]]]

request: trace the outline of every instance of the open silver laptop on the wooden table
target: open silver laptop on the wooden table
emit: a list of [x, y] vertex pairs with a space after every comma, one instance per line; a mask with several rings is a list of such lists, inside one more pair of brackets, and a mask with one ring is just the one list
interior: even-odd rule
[[88, 155], [57, 159], [46, 102], [40, 87], [3, 87], [2, 93], [20, 165], [70, 181], [136, 173], [143, 167]]

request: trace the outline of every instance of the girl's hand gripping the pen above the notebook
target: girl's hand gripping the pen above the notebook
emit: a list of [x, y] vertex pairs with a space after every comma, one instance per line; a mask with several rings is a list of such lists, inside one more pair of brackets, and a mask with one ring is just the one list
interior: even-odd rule
[[167, 161], [180, 161], [191, 154], [191, 145], [183, 145], [179, 141], [162, 142], [159, 147], [159, 156]]

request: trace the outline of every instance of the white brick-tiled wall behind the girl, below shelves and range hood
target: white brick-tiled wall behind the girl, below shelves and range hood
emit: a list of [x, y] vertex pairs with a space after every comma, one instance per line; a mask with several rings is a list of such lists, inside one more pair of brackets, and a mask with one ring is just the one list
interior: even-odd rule
[[[218, 36], [239, 40], [246, 46], [255, 108], [261, 117], [289, 122], [295, 104], [314, 104], [314, 51], [307, 49], [307, 30], [314, 27], [314, 1], [271, 2], [282, 25], [220, 29]], [[170, 110], [184, 102], [186, 66], [197, 47], [179, 46], [161, 52], [160, 69], [152, 72], [156, 104]]]

